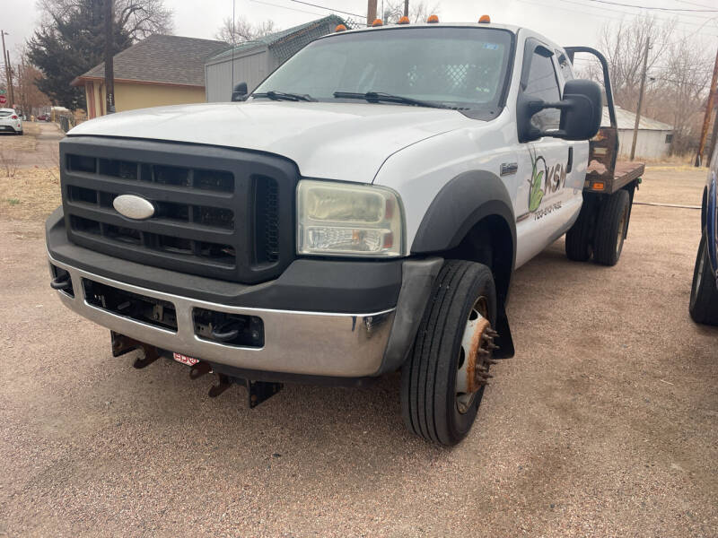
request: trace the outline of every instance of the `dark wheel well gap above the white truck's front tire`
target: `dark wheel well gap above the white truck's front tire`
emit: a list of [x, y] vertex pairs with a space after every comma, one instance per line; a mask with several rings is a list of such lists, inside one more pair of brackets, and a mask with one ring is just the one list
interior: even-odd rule
[[505, 307], [513, 269], [513, 237], [506, 221], [489, 215], [478, 221], [457, 247], [443, 253], [448, 259], [468, 260], [491, 268], [496, 284], [496, 298]]

